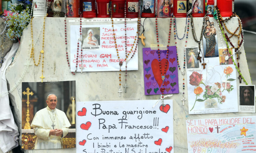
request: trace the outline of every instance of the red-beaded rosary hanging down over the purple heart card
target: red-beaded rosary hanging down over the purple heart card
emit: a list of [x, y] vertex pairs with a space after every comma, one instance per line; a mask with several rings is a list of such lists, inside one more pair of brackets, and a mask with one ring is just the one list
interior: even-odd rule
[[[169, 28], [169, 36], [168, 36], [168, 45], [167, 45], [167, 54], [166, 54], [166, 60], [165, 60], [165, 67], [164, 67], [164, 72], [162, 72], [160, 49], [159, 49], [159, 40], [158, 40], [157, 17], [156, 17], [156, 40], [157, 40], [157, 50], [158, 50], [158, 62], [159, 62], [161, 78], [163, 80], [162, 95], [164, 94], [164, 80], [165, 80], [165, 74], [166, 74], [166, 66], [167, 66], [167, 62], [168, 62], [169, 43], [170, 43], [170, 35], [171, 35], [171, 28], [172, 28], [172, 18], [170, 18], [170, 26], [169, 27], [170, 28]], [[162, 98], [164, 98], [164, 96], [162, 96]]]

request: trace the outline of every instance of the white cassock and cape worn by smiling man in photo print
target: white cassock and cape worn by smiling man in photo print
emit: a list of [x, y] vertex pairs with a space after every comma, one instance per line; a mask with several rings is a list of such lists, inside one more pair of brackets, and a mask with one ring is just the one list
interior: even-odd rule
[[[56, 113], [56, 118], [55, 118]], [[55, 119], [54, 119], [55, 118]], [[54, 125], [54, 128], [52, 127]], [[64, 112], [58, 109], [51, 110], [48, 106], [36, 113], [31, 127], [34, 127], [37, 136], [35, 149], [58, 149], [62, 148], [62, 138], [68, 134], [71, 126]], [[51, 129], [62, 129], [63, 136], [50, 135]]]

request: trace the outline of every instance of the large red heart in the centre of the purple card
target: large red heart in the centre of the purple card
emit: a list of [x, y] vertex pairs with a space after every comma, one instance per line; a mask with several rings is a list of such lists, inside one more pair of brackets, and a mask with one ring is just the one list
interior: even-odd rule
[[[165, 62], [166, 62], [165, 58], [161, 60], [161, 67], [162, 67], [163, 72], [164, 72]], [[153, 75], [156, 79], [156, 82], [158, 83], [159, 88], [161, 88], [163, 80], [161, 78], [161, 72], [160, 72], [158, 59], [153, 59], [153, 61], [151, 62], [151, 68], [152, 68], [152, 71], [153, 71]], [[167, 70], [169, 69], [169, 62], [168, 61], [167, 61], [166, 69]]]

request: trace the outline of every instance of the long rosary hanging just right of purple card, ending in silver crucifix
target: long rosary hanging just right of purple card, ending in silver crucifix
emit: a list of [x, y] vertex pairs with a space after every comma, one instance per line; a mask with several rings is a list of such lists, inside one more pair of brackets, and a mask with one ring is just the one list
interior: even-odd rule
[[[188, 24], [188, 26], [185, 26], [185, 32], [184, 32], [184, 35], [183, 35], [183, 38], [185, 37], [185, 33], [187, 31], [187, 34], [186, 34], [186, 40], [185, 40], [185, 47], [187, 46], [186, 43], [187, 43], [187, 38], [188, 38], [188, 32], [189, 32], [189, 21], [190, 21], [190, 18], [189, 16], [186, 17], [186, 25]], [[186, 28], [187, 27], [187, 28]], [[175, 39], [175, 44], [177, 44], [176, 42], [176, 35], [177, 35], [177, 38], [178, 38], [178, 34], [177, 34], [177, 26], [176, 26], [176, 19], [174, 17], [174, 39]], [[178, 38], [179, 40], [183, 39], [183, 38]], [[176, 46], [177, 48], [177, 46]], [[178, 52], [177, 52], [177, 63], [178, 63], [178, 67], [179, 67], [179, 70], [181, 71], [181, 75], [182, 75], [182, 99], [181, 101], [183, 101], [183, 106], [184, 106], [184, 102], [186, 101], [185, 97], [184, 97], [184, 94], [185, 94], [185, 72], [186, 72], [186, 68], [185, 68], [185, 65], [186, 65], [186, 50], [184, 48], [184, 62], [183, 62], [183, 71], [181, 70], [180, 68], [180, 63], [179, 63], [179, 58], [178, 58]]]

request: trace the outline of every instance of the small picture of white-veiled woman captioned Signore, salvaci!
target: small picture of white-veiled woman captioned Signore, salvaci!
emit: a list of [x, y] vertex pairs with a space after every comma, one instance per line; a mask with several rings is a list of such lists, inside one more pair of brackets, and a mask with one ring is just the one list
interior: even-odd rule
[[82, 28], [84, 50], [100, 49], [100, 27]]

